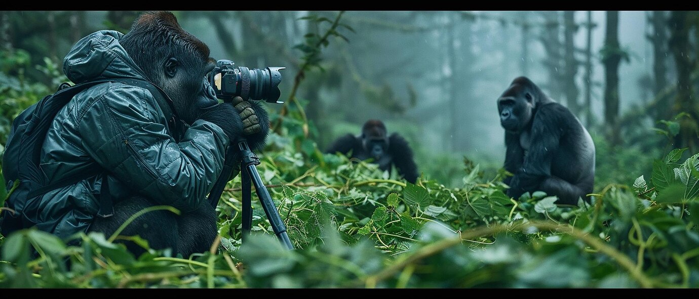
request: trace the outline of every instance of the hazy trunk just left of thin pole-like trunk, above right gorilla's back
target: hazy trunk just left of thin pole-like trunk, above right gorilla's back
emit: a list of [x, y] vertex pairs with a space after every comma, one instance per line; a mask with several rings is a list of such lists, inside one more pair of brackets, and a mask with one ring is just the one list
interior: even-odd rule
[[565, 76], [564, 87], [565, 87], [565, 99], [568, 101], [568, 108], [573, 115], [579, 115], [580, 106], [577, 103], [577, 96], [579, 90], [575, 84], [575, 75], [577, 75], [577, 59], [575, 59], [575, 43], [573, 38], [575, 38], [575, 31], [577, 31], [577, 24], [575, 24], [575, 11], [566, 10], [563, 13], [563, 24], [564, 24], [564, 35], [565, 35]]

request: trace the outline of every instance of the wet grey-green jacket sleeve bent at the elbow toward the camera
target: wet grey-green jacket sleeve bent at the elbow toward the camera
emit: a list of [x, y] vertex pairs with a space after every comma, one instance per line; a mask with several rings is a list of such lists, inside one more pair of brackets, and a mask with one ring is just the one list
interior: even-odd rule
[[78, 119], [82, 145], [131, 189], [182, 212], [195, 210], [223, 168], [229, 138], [202, 119], [180, 143], [146, 89], [111, 85]]

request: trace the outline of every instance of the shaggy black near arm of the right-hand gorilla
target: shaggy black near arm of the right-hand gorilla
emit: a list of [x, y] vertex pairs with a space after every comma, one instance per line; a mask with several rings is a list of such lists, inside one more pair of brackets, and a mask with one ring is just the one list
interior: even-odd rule
[[529, 131], [531, 145], [522, 166], [510, 181], [507, 196], [519, 198], [526, 191], [539, 189], [540, 184], [551, 177], [551, 163], [559, 149], [561, 133], [566, 130], [565, 124], [555, 103], [539, 107]]

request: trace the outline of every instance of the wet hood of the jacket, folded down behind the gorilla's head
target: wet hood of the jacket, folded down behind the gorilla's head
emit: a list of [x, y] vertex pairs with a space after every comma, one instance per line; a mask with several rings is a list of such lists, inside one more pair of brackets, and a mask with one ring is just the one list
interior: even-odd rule
[[101, 30], [80, 39], [63, 59], [63, 73], [78, 84], [100, 78], [145, 79], [119, 40], [119, 31]]

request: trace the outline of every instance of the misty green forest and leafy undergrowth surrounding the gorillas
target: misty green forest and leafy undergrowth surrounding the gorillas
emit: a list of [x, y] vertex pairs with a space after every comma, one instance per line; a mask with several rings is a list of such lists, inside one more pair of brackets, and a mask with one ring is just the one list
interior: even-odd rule
[[[99, 30], [127, 34], [140, 13], [0, 11], [0, 154], [15, 117], [70, 82], [62, 64], [73, 45]], [[0, 235], [0, 286], [699, 287], [699, 12], [173, 13], [214, 59], [286, 67], [284, 103], [261, 101], [270, 133], [255, 154], [295, 249], [275, 237], [254, 187], [244, 236], [238, 175], [206, 252], [27, 228]], [[509, 196], [498, 99], [520, 76], [589, 132], [590, 200]], [[415, 184], [396, 167], [326, 153], [370, 119], [410, 145]], [[8, 210], [13, 185], [2, 182]], [[139, 213], [179, 213], [149, 209]]]

